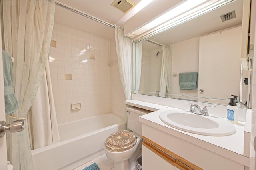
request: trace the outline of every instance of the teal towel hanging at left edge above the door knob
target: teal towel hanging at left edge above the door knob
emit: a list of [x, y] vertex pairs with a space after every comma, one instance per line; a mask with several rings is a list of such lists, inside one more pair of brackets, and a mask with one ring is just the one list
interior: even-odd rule
[[3, 53], [3, 70], [4, 70], [4, 104], [5, 114], [11, 114], [18, 108], [18, 101], [14, 94], [14, 82], [12, 71], [12, 58], [4, 51]]

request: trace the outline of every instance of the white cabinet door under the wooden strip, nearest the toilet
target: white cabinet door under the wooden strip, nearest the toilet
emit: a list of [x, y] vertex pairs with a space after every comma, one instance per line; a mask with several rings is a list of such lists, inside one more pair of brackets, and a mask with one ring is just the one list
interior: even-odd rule
[[174, 170], [174, 166], [152, 152], [146, 146], [142, 146], [143, 170]]

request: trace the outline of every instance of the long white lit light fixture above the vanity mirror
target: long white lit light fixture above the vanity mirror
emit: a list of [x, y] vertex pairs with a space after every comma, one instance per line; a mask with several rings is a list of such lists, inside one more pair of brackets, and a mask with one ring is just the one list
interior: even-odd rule
[[[140, 37], [149, 37], [157, 32], [164, 31], [186, 22], [187, 20], [195, 18], [231, 1], [233, 0], [186, 0], [138, 28], [131, 34], [138, 36], [137, 39], [140, 40]], [[144, 38], [145, 37], [143, 37], [143, 39]]]

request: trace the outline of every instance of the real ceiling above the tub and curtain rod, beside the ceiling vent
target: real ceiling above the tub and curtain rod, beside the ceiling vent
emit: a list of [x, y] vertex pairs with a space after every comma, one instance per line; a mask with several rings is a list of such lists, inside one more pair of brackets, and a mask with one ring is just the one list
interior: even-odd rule
[[[135, 5], [140, 0], [131, 0]], [[58, 0], [61, 4], [69, 6], [83, 13], [89, 14], [95, 18], [108, 22], [112, 25], [118, 23], [123, 27], [124, 22], [119, 21], [128, 12], [122, 11], [111, 6], [114, 0]], [[55, 20], [58, 24], [63, 24], [84, 32], [89, 32], [97, 36], [111, 39], [114, 36], [114, 29], [104, 24], [95, 22], [89, 18], [71, 12], [65, 8], [56, 5]]]

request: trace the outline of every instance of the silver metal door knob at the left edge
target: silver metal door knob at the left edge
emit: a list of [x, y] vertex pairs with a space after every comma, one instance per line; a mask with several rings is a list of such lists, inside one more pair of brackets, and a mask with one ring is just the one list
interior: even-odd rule
[[24, 129], [24, 120], [16, 120], [10, 124], [6, 124], [5, 121], [0, 122], [0, 137], [5, 135], [5, 132], [21, 132]]

